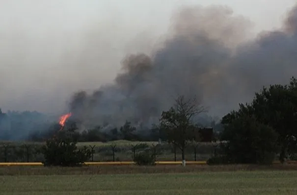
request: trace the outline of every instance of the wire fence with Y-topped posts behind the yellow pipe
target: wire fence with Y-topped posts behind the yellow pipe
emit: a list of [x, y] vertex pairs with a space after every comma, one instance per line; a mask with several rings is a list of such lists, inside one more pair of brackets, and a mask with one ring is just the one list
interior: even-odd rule
[[[41, 148], [44, 144], [0, 144], [0, 162], [41, 162], [44, 156]], [[80, 145], [81, 147], [83, 145]], [[92, 151], [90, 162], [123, 162], [133, 161], [136, 153], [150, 151], [156, 161], [180, 161], [181, 151], [170, 144], [104, 144], [96, 146], [89, 143], [85, 145]], [[185, 149], [186, 160], [206, 161], [212, 155], [220, 153], [216, 144], [199, 143], [189, 145]]]

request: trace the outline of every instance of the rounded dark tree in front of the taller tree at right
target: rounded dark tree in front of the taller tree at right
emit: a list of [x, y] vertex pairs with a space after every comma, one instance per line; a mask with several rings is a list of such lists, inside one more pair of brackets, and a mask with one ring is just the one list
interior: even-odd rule
[[229, 163], [271, 164], [277, 151], [277, 133], [253, 115], [224, 123], [221, 139], [227, 141], [222, 147]]

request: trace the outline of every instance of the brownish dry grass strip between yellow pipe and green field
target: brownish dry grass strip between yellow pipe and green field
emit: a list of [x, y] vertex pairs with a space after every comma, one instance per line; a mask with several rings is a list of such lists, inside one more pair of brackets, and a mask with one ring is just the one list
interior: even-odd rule
[[139, 167], [135, 165], [121, 166], [83, 166], [83, 167], [40, 167], [11, 166], [0, 167], [0, 175], [86, 175], [86, 174], [137, 174], [137, 173], [188, 173], [188, 172], [221, 172], [221, 171], [297, 171], [297, 165], [158, 165]]

